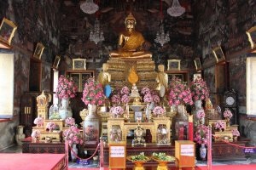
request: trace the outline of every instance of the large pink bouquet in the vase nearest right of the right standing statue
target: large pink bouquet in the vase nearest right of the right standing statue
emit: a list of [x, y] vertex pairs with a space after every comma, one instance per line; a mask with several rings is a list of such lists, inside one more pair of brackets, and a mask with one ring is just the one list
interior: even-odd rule
[[174, 77], [170, 83], [169, 105], [180, 105], [182, 103], [193, 105], [191, 92], [186, 82]]

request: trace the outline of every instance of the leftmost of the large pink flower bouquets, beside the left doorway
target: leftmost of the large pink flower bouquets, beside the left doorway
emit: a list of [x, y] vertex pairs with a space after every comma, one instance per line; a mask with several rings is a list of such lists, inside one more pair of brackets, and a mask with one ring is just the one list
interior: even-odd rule
[[74, 98], [77, 91], [78, 87], [76, 84], [61, 75], [56, 88], [56, 97], [58, 99]]

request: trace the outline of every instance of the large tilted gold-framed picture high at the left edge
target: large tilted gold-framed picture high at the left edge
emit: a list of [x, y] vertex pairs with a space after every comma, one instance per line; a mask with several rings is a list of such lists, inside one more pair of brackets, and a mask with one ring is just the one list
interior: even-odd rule
[[17, 26], [11, 20], [3, 18], [0, 26], [0, 42], [10, 46], [12, 38], [15, 35]]

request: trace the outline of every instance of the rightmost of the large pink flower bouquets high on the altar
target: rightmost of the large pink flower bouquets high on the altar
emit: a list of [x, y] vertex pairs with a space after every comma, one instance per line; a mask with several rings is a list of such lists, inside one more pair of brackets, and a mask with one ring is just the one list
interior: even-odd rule
[[190, 83], [190, 89], [194, 101], [199, 99], [205, 100], [209, 98], [207, 82], [205, 82], [202, 78], [195, 78], [195, 80]]

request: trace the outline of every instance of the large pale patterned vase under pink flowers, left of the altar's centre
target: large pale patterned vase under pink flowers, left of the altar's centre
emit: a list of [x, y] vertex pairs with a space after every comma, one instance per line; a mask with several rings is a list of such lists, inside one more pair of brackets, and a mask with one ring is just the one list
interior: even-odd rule
[[88, 105], [88, 115], [84, 118], [84, 143], [97, 144], [100, 136], [100, 118], [96, 105]]

